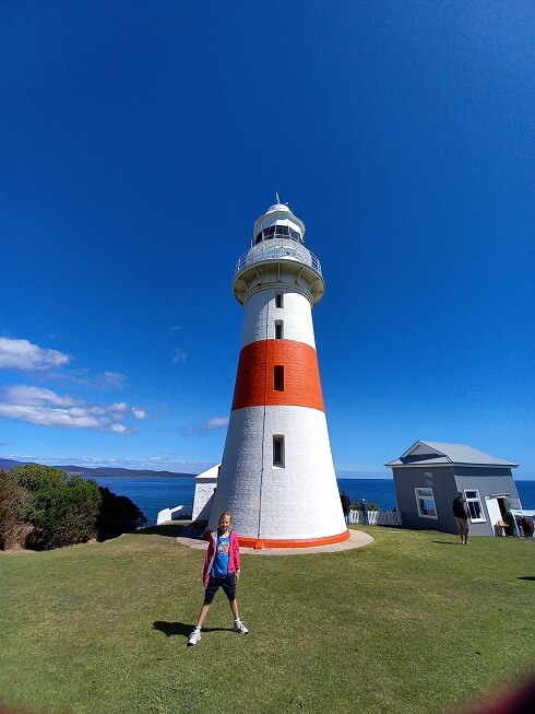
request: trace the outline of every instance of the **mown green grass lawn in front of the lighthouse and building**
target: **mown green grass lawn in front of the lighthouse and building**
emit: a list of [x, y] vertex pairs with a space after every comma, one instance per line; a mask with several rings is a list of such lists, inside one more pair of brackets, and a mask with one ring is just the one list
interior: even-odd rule
[[[159, 530], [163, 530], [162, 528]], [[535, 541], [365, 527], [340, 553], [242, 555], [247, 636], [167, 535], [0, 553], [0, 702], [34, 712], [443, 712], [535, 662]]]

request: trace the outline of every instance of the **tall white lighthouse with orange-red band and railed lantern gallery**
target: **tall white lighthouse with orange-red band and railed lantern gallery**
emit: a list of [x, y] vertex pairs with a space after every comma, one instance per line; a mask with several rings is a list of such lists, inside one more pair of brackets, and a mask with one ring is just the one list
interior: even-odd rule
[[304, 222], [277, 196], [255, 221], [233, 283], [245, 320], [209, 527], [230, 511], [240, 545], [257, 549], [349, 538], [312, 324], [325, 283], [304, 242]]

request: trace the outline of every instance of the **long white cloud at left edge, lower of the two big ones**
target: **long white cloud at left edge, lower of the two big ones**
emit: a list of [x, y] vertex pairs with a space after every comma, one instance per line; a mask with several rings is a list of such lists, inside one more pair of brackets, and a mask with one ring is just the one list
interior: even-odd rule
[[128, 412], [127, 402], [109, 406], [90, 405], [70, 396], [60, 396], [50, 389], [17, 385], [8, 387], [0, 401], [0, 417], [41, 426], [92, 429], [116, 434], [131, 434], [122, 421]]

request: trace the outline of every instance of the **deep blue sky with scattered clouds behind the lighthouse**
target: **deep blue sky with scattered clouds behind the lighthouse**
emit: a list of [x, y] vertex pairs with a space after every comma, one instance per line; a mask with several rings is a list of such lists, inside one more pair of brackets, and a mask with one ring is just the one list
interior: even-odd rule
[[326, 281], [335, 467], [535, 478], [535, 5], [0, 5], [0, 455], [221, 460], [235, 265], [275, 191]]

